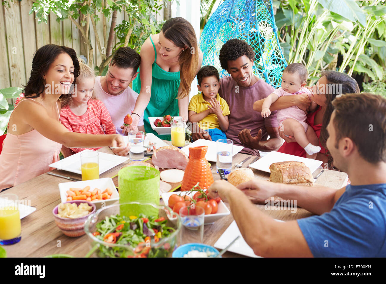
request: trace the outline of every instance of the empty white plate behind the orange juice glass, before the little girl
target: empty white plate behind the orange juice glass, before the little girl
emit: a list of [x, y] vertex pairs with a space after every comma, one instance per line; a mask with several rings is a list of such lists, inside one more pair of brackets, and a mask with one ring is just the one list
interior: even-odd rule
[[[82, 174], [81, 171], [81, 165], [80, 165], [80, 154], [84, 153], [85, 151], [92, 151], [92, 150], [83, 150], [79, 153], [76, 153], [74, 155], [71, 155], [67, 158], [64, 158], [63, 160], [60, 160], [58, 162], [52, 163], [49, 165], [52, 168], [57, 168], [58, 170], [66, 170], [68, 172], [72, 173], [78, 173]], [[107, 170], [110, 170], [110, 168], [113, 168], [120, 163], [126, 162], [129, 160], [127, 157], [107, 154], [107, 153], [99, 153], [99, 174], [106, 172]]]

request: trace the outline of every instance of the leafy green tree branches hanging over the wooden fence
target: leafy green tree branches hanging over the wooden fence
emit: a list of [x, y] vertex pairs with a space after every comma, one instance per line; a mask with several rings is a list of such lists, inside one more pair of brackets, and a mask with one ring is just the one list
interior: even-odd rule
[[[171, 0], [165, 0], [164, 2], [166, 1]], [[50, 12], [56, 15], [57, 22], [71, 19], [74, 23], [77, 23], [80, 17], [80, 26], [85, 27], [88, 24], [88, 29], [91, 29], [93, 28], [93, 22], [95, 22], [96, 25], [102, 17], [110, 21], [113, 19], [112, 15], [114, 11], [124, 11], [128, 20], [123, 20], [122, 23], [117, 22], [115, 26], [114, 31], [117, 32], [119, 43], [114, 46], [112, 50], [112, 53], [114, 53], [115, 49], [120, 46], [130, 46], [139, 49], [145, 39], [149, 37], [149, 34], [159, 32], [162, 23], [157, 22], [154, 15], [159, 13], [161, 9], [163, 9], [163, 3], [158, 4], [157, 0], [36, 0], [32, 4], [30, 14], [32, 12], [36, 13], [39, 24], [41, 22], [47, 24]], [[88, 19], [90, 19], [88, 17], [92, 17], [93, 21], [88, 21]], [[98, 34], [99, 37], [99, 41], [97, 37], [97, 46], [98, 49], [100, 49], [102, 57], [101, 65], [97, 66], [95, 70], [101, 72], [108, 64], [112, 53], [103, 53], [103, 45], [100, 43], [100, 40], [104, 37], [111, 40], [113, 37], [110, 38], [108, 34], [99, 34], [98, 31], [94, 32], [96, 35]], [[86, 44], [91, 45], [91, 42]], [[97, 48], [97, 46], [94, 46], [94, 49]], [[108, 44], [105, 43], [103, 48], [106, 49], [107, 46]], [[91, 51], [92, 49], [93, 48], [91, 48]], [[91, 67], [93, 67], [92, 62], [92, 60], [89, 60]]]

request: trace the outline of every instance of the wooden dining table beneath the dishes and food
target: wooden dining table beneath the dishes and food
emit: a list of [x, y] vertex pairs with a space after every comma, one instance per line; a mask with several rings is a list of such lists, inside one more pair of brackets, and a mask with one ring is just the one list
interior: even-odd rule
[[[170, 141], [164, 142], [171, 145]], [[108, 147], [103, 147], [98, 151], [113, 154], [112, 150]], [[232, 170], [237, 163], [248, 157], [250, 158], [243, 163], [242, 167], [247, 167], [256, 157], [242, 153], [236, 154], [232, 160]], [[129, 162], [130, 160], [102, 173], [100, 178], [116, 176], [120, 168], [124, 167], [124, 165]], [[216, 173], [215, 162], [211, 162], [211, 170], [214, 180], [220, 179], [220, 176]], [[269, 179], [269, 173], [256, 169], [252, 170], [257, 179]], [[321, 170], [324, 170], [324, 172], [315, 181], [316, 185], [323, 185], [335, 189], [340, 189], [347, 185], [347, 174], [344, 172], [318, 168], [313, 173], [313, 176], [315, 177]], [[52, 170], [52, 172], [81, 179], [81, 175], [76, 173], [57, 169]], [[27, 201], [30, 203], [30, 206], [36, 207], [36, 211], [21, 220], [22, 238], [20, 242], [14, 245], [4, 246], [8, 257], [44, 257], [53, 254], [68, 254], [73, 255], [74, 257], [84, 257], [87, 254], [90, 250], [89, 237], [83, 235], [77, 238], [71, 238], [64, 235], [61, 230], [59, 230], [58, 226], [56, 226], [52, 215], [52, 209], [61, 202], [58, 184], [67, 181], [68, 180], [66, 179], [44, 173], [3, 192], [17, 194], [19, 199], [24, 201], [24, 204], [26, 204]], [[118, 184], [115, 185], [118, 186]], [[226, 206], [229, 208], [229, 204], [226, 204]], [[305, 218], [313, 215], [303, 208], [297, 208], [296, 213], [293, 213], [291, 209], [265, 210], [264, 204], [256, 204], [255, 206], [271, 217], [283, 221]], [[230, 214], [213, 224], [205, 225], [203, 243], [213, 246], [232, 221], [234, 221], [234, 218], [232, 214]], [[229, 242], [230, 241], [232, 240], [229, 240]], [[223, 254], [223, 257], [243, 256], [237, 253], [226, 252]]]

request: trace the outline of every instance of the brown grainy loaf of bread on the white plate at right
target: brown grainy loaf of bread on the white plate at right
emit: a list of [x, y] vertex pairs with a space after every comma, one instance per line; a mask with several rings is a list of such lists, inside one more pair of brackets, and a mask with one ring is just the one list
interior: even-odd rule
[[303, 162], [287, 161], [273, 163], [269, 166], [269, 181], [283, 184], [314, 186], [310, 168]]

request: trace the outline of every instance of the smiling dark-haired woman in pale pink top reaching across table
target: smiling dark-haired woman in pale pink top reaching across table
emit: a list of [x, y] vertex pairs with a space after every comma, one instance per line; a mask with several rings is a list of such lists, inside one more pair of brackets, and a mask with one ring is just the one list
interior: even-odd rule
[[48, 172], [59, 159], [60, 145], [67, 147], [112, 146], [118, 155], [129, 148], [122, 136], [69, 132], [59, 121], [59, 97], [71, 96], [79, 75], [74, 49], [55, 44], [39, 48], [32, 60], [31, 77], [12, 112], [0, 154], [0, 190]]

